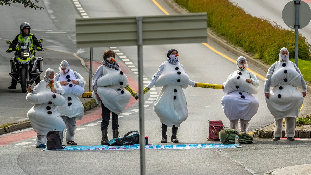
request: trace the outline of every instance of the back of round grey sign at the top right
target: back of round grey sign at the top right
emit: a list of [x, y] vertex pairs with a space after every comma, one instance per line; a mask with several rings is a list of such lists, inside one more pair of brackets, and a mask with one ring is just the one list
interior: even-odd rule
[[295, 2], [300, 2], [299, 5], [299, 16], [298, 24], [300, 25], [298, 29], [302, 29], [307, 26], [311, 19], [311, 9], [309, 5], [303, 1], [290, 1], [283, 8], [282, 18], [286, 26], [289, 26], [292, 29], [295, 29], [294, 25], [296, 24], [296, 4]]

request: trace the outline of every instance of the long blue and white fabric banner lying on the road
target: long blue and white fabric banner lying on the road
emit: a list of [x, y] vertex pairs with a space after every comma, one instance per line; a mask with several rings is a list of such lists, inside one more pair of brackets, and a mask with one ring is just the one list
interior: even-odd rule
[[[239, 146], [241, 147], [241, 146]], [[172, 144], [172, 145], [145, 145], [145, 149], [193, 149], [193, 148], [236, 148], [234, 144]], [[83, 151], [83, 150], [126, 150], [126, 149], [140, 149], [139, 144], [129, 146], [67, 146], [64, 151]], [[59, 149], [58, 149], [59, 150]], [[50, 151], [46, 148], [43, 151]]]

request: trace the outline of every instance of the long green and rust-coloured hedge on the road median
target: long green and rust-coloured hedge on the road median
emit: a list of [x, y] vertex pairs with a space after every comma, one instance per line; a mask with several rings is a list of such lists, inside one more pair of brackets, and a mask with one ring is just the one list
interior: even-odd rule
[[[217, 35], [241, 47], [267, 64], [279, 60], [282, 47], [295, 58], [295, 30], [285, 30], [275, 22], [253, 17], [228, 0], [174, 0], [191, 13], [206, 12], [207, 26]], [[310, 45], [303, 35], [298, 38], [298, 58], [311, 60]]]

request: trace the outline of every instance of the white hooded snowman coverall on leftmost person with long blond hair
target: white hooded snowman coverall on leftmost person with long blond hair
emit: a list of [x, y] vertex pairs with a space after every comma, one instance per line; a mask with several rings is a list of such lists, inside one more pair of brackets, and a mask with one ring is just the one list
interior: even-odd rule
[[27, 117], [37, 133], [36, 146], [45, 144], [46, 134], [49, 131], [63, 131], [65, 129], [65, 123], [56, 108], [56, 106], [62, 106], [65, 103], [65, 98], [62, 96], [65, 91], [57, 82], [53, 83], [56, 93], [51, 92], [50, 87], [47, 87], [51, 81], [49, 76], [52, 72], [54, 72], [53, 69], [47, 69], [43, 80], [35, 85], [33, 92], [26, 96], [27, 101], [34, 104], [28, 111]]

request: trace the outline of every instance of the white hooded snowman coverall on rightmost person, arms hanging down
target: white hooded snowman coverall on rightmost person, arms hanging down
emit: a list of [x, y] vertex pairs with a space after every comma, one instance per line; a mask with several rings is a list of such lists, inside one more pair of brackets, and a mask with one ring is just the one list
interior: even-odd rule
[[[269, 111], [275, 120], [274, 137], [282, 137], [283, 118], [285, 118], [285, 136], [295, 136], [295, 117], [304, 102], [304, 97], [297, 87], [301, 86], [303, 92], [307, 91], [307, 85], [300, 70], [288, 58], [282, 60], [282, 52], [288, 50], [283, 47], [280, 50], [279, 60], [271, 65], [265, 81], [265, 93]], [[272, 89], [270, 90], [270, 87]]]

